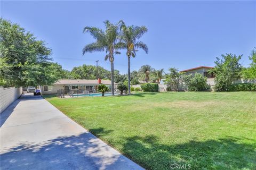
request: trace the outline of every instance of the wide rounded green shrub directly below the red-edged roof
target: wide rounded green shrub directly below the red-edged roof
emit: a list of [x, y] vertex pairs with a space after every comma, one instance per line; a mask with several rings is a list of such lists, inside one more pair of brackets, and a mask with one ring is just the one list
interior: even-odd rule
[[195, 75], [184, 76], [188, 91], [205, 91], [210, 90], [211, 87], [207, 84], [207, 78], [203, 77], [202, 74], [195, 73]]

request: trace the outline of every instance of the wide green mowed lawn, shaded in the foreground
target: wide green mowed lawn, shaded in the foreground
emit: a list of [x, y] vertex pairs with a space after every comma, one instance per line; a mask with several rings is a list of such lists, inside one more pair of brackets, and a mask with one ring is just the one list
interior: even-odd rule
[[256, 92], [44, 97], [146, 169], [256, 169]]

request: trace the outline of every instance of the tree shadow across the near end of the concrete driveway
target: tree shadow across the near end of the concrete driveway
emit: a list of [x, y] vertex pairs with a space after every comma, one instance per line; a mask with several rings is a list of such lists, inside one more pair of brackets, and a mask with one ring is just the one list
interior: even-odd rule
[[1, 153], [2, 169], [141, 169], [89, 132], [42, 143], [21, 142]]

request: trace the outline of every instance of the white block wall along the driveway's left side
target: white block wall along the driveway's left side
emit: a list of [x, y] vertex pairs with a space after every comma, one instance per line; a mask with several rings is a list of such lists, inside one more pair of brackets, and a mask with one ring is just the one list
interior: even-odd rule
[[22, 88], [3, 88], [0, 87], [0, 113], [4, 111], [9, 105], [18, 99], [22, 94]]

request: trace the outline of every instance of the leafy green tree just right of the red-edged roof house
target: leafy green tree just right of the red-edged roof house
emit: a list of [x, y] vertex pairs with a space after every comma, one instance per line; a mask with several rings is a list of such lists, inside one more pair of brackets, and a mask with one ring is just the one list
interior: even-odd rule
[[242, 55], [234, 54], [221, 55], [221, 59], [217, 57], [214, 69], [210, 72], [215, 75], [215, 91], [227, 91], [236, 78], [241, 77], [242, 66], [239, 60]]

